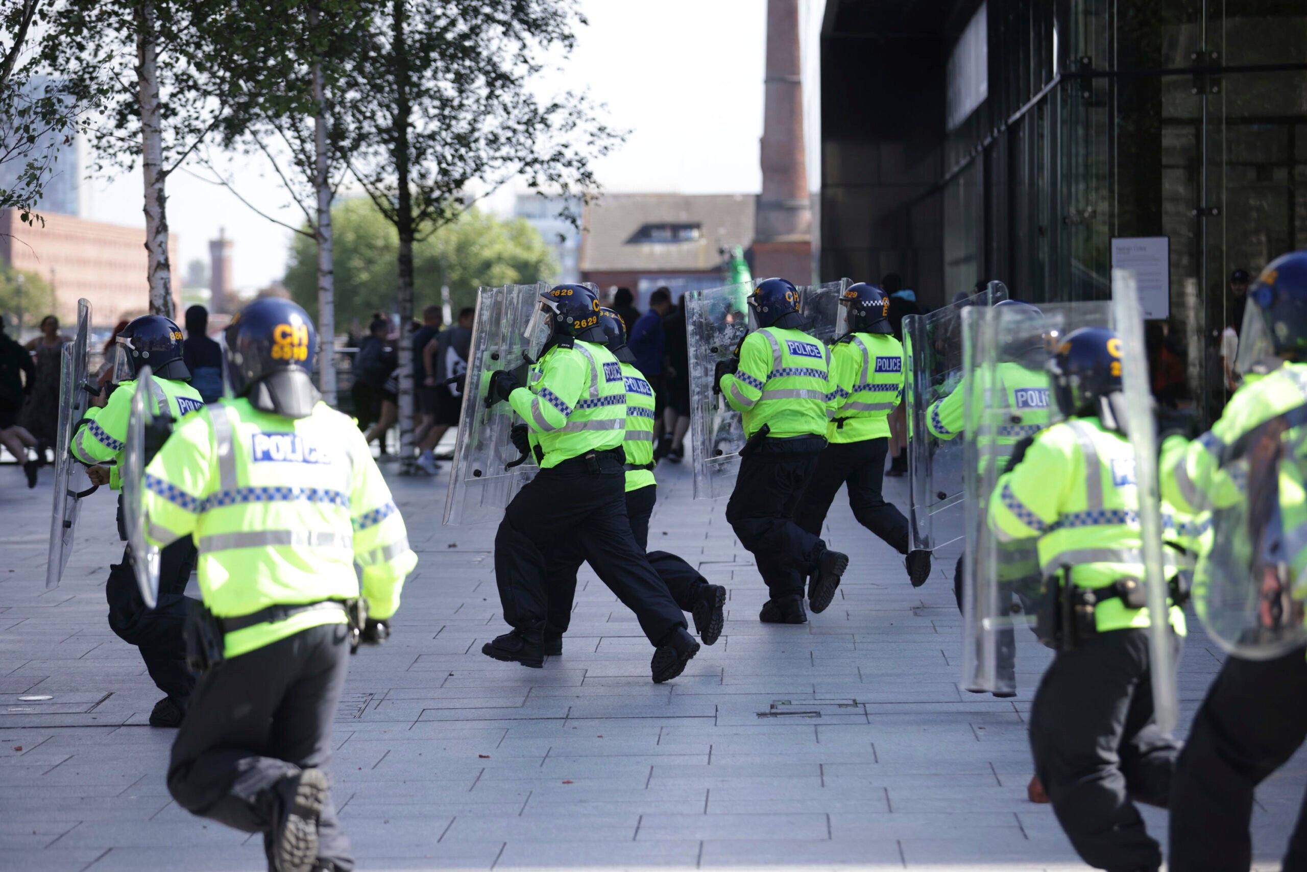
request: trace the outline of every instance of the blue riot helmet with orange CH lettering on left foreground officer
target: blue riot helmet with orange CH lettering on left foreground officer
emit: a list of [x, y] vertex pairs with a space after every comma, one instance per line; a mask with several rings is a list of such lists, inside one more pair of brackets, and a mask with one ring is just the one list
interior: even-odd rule
[[314, 387], [318, 336], [308, 312], [289, 299], [256, 299], [223, 331], [227, 382], [256, 409], [307, 418], [320, 399]]

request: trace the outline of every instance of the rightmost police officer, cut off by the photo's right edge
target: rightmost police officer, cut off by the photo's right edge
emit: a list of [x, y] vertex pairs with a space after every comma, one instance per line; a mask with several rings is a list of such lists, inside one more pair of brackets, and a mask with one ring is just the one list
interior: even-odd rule
[[[1219, 467], [1231, 446], [1263, 425], [1285, 416], [1287, 431], [1282, 439], [1302, 438], [1307, 403], [1307, 251], [1273, 260], [1249, 288], [1235, 369], [1243, 386], [1212, 430], [1193, 442], [1172, 435], [1162, 443], [1162, 495], [1180, 509], [1219, 510], [1255, 497], [1238, 482], [1231, 486]], [[1302, 477], [1293, 459], [1283, 463], [1277, 509], [1286, 531], [1300, 531], [1307, 520]], [[1248, 537], [1246, 531], [1222, 529], [1219, 514], [1213, 523], [1216, 536]], [[1281, 562], [1290, 578], [1302, 578], [1307, 563], [1302, 539], [1285, 539], [1298, 550], [1282, 554]], [[1266, 601], [1272, 601], [1270, 588], [1280, 587], [1283, 573], [1269, 571], [1270, 578], [1263, 580]], [[1193, 718], [1172, 779], [1171, 869], [1247, 869], [1252, 863], [1248, 825], [1253, 790], [1307, 736], [1304, 658], [1307, 648], [1300, 645], [1265, 660], [1243, 659], [1238, 652], [1226, 658]], [[1290, 835], [1283, 868], [1307, 869], [1307, 812], [1298, 817]]]

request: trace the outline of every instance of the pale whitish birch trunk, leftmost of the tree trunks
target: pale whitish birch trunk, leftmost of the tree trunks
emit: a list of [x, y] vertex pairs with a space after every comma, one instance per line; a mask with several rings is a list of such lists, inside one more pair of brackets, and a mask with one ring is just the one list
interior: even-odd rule
[[141, 101], [141, 169], [145, 176], [145, 252], [149, 256], [150, 314], [174, 318], [167, 259], [167, 195], [163, 183], [163, 119], [154, 44], [154, 3], [136, 4], [136, 80]]

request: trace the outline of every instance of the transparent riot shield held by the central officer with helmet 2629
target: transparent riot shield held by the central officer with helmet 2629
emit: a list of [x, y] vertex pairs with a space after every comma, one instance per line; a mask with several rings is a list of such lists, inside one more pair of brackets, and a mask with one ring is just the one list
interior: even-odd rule
[[546, 290], [549, 285], [538, 282], [477, 292], [463, 416], [444, 501], [446, 524], [499, 520], [508, 502], [536, 475], [535, 458], [523, 456], [510, 438], [515, 424], [512, 407], [486, 405], [486, 395], [495, 370], [514, 370], [518, 382], [527, 384], [531, 366], [527, 327], [540, 307], [540, 294]]

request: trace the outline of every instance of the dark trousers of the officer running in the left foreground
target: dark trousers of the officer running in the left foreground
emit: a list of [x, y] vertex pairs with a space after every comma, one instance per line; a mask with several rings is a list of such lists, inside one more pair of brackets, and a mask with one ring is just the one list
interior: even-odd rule
[[[269, 869], [271, 833], [282, 812], [277, 782], [331, 760], [348, 639], [346, 625], [328, 624], [222, 662], [200, 679], [173, 743], [173, 799], [192, 814], [263, 833]], [[329, 796], [318, 856], [341, 872], [354, 868]]]

